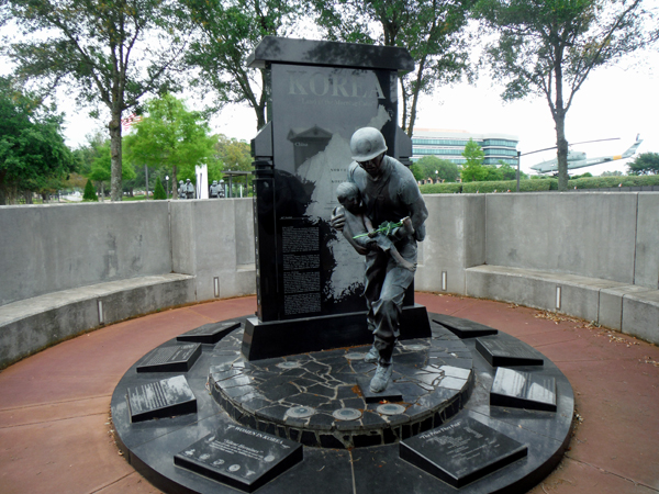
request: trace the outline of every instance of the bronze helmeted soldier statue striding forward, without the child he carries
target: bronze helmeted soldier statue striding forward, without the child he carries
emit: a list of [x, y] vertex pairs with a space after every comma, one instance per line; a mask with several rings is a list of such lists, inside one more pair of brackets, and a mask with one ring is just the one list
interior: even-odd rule
[[[404, 263], [381, 248], [366, 252], [364, 294], [368, 328], [373, 333], [373, 346], [366, 361], [378, 363], [370, 389], [380, 393], [391, 380], [392, 355], [400, 335], [403, 299], [414, 280], [415, 269], [410, 269], [410, 266], [416, 265], [416, 243], [425, 237], [424, 222], [428, 211], [412, 171], [384, 154], [387, 144], [380, 131], [373, 127], [359, 128], [350, 139], [350, 151], [354, 161], [348, 169], [348, 182], [359, 189], [362, 214], [376, 226], [400, 223], [407, 217], [411, 222], [411, 227], [401, 229], [401, 238], [394, 239], [395, 249], [405, 260]], [[332, 216], [332, 226], [344, 231], [345, 225], [346, 214], [338, 207]], [[351, 242], [351, 245], [356, 244]], [[364, 254], [364, 249], [357, 251]]]

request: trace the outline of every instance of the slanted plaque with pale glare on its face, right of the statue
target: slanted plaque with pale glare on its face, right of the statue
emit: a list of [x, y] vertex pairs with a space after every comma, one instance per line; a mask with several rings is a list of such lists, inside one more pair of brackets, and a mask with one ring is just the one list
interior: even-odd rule
[[556, 412], [556, 379], [515, 369], [496, 369], [490, 405]]

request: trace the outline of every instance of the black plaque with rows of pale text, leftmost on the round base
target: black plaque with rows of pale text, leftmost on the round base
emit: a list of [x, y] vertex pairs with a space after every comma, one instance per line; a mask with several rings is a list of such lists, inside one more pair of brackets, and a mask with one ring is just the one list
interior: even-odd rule
[[132, 423], [197, 412], [197, 398], [185, 375], [129, 388], [126, 401]]

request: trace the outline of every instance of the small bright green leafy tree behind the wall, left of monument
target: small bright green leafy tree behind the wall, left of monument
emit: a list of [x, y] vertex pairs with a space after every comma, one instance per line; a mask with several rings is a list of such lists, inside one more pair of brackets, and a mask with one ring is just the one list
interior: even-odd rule
[[209, 162], [216, 138], [209, 134], [209, 124], [199, 112], [167, 93], [146, 103], [148, 116], [134, 125], [126, 136], [130, 160], [150, 168], [171, 170], [172, 198], [177, 199], [178, 176], [194, 176], [194, 166]]

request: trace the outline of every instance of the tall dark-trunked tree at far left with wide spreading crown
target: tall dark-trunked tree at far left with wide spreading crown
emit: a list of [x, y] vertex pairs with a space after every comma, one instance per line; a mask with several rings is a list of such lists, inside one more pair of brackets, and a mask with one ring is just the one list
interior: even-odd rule
[[185, 44], [174, 0], [5, 0], [0, 25], [14, 21], [30, 37], [5, 52], [24, 79], [66, 85], [80, 103], [110, 111], [112, 200], [121, 201], [122, 113], [148, 92], [170, 87]]

